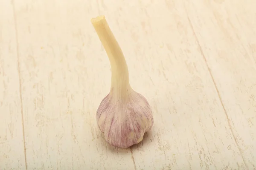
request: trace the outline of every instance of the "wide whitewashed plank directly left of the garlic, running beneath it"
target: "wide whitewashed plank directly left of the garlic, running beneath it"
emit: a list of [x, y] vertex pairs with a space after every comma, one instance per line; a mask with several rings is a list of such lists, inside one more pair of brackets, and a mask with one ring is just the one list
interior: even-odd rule
[[96, 126], [96, 109], [110, 89], [110, 65], [82, 6], [60, 0], [16, 4], [29, 170], [133, 165], [130, 150], [106, 144]]

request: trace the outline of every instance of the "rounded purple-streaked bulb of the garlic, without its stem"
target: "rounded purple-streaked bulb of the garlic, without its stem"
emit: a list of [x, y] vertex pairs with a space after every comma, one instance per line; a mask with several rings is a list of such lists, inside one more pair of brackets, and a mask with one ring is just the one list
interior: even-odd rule
[[100, 103], [96, 117], [105, 140], [121, 148], [140, 143], [154, 123], [148, 101], [133, 90], [126, 98], [115, 97], [111, 91]]

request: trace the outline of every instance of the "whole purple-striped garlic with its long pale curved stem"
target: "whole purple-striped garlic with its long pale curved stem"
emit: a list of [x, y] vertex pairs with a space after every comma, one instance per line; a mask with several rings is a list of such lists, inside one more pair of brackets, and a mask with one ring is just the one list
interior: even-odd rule
[[127, 148], [142, 141], [151, 129], [153, 116], [148, 101], [129, 83], [128, 67], [105, 16], [91, 20], [111, 64], [111, 90], [96, 111], [99, 129], [105, 140], [116, 147]]

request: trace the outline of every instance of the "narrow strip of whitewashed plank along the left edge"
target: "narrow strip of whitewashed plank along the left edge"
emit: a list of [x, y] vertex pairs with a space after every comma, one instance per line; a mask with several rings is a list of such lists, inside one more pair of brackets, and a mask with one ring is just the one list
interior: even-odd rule
[[0, 1], [0, 170], [25, 170], [22, 102], [12, 3]]

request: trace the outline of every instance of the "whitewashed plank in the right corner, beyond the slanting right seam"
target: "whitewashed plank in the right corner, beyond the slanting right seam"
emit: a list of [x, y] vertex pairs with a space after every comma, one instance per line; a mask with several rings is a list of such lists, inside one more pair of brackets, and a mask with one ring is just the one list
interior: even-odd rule
[[255, 6], [255, 1], [239, 0], [187, 4], [192, 28], [247, 169], [256, 169]]

